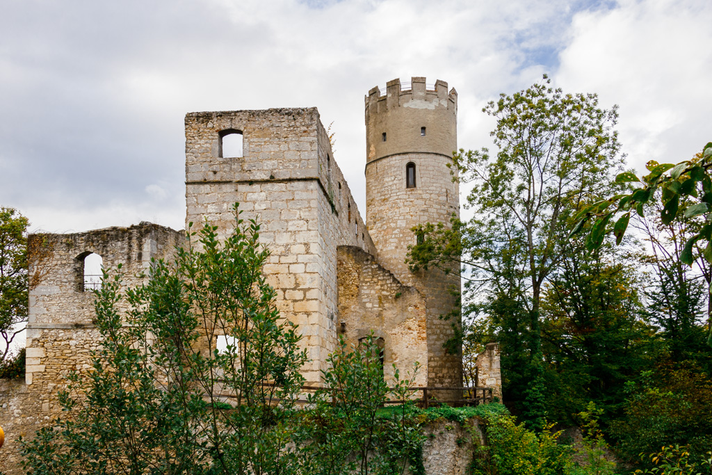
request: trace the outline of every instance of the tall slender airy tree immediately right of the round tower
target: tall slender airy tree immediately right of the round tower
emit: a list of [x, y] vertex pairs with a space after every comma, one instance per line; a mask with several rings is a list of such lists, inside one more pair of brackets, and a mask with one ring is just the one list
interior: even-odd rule
[[565, 94], [544, 78], [501, 95], [484, 112], [497, 119], [498, 152], [461, 151], [455, 166], [473, 184], [467, 205], [475, 216], [452, 229], [429, 224], [415, 231], [412, 268], [453, 261], [464, 265], [466, 311], [493, 320], [508, 375], [508, 400], [523, 400], [525, 417], [543, 424], [543, 350], [540, 303], [545, 283], [580, 245], [568, 241], [572, 215], [614, 187], [622, 167], [613, 127], [617, 111], [602, 110], [596, 95]]

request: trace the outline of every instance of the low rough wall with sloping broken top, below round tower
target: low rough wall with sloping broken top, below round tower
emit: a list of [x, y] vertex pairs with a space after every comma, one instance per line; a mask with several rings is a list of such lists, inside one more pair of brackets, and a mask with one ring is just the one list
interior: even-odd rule
[[[408, 377], [420, 367], [414, 386], [426, 386], [428, 347], [425, 301], [414, 288], [403, 286], [375, 258], [353, 246], [338, 248], [340, 334], [358, 345], [373, 332], [384, 340], [384, 377], [393, 378], [393, 365]], [[414, 393], [417, 396], [417, 394]]]

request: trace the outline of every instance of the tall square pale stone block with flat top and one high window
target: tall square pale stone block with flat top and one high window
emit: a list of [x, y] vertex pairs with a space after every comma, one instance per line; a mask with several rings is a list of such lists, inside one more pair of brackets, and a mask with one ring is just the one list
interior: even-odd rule
[[[281, 314], [303, 335], [304, 375], [317, 382], [336, 343], [336, 248], [375, 253], [318, 111], [191, 113], [185, 127], [187, 221], [207, 217], [227, 232], [234, 202], [258, 219], [271, 251], [264, 271]], [[242, 133], [242, 157], [220, 156], [226, 130]]]

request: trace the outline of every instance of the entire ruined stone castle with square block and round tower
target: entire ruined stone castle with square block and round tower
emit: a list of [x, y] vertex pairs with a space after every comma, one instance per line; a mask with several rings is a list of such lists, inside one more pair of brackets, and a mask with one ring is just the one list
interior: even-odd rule
[[[374, 333], [384, 377], [392, 376], [392, 365], [405, 373], [419, 362], [415, 385], [462, 385], [461, 355], [443, 347], [452, 322], [440, 318], [458, 304], [451, 289], [459, 289], [459, 273], [412, 272], [405, 263], [418, 239], [413, 226], [459, 216], [459, 186], [447, 166], [457, 149], [456, 116], [457, 93], [441, 80], [429, 86], [425, 78], [396, 79], [384, 94], [369, 91], [364, 221], [316, 108], [186, 115], [186, 222], [207, 218], [225, 233], [235, 202], [244, 217], [259, 221], [271, 251], [263, 270], [281, 315], [298, 325], [309, 382], [320, 382], [340, 336], [357, 345]], [[234, 135], [242, 150], [224, 152]], [[145, 222], [31, 236], [30, 245], [48, 254], [30, 268], [25, 384], [12, 390], [14, 399], [0, 387], [0, 397], [15, 401], [0, 416], [7, 434], [19, 427], [27, 434], [56, 414], [64, 377], [88, 368], [100, 344], [85, 258], [98, 254], [106, 268], [122, 263], [123, 285], [135, 286], [147, 278], [152, 258], [170, 259], [184, 239], [184, 231]], [[498, 352], [486, 355], [488, 382], [499, 383]], [[501, 397], [499, 387], [495, 394]]]

